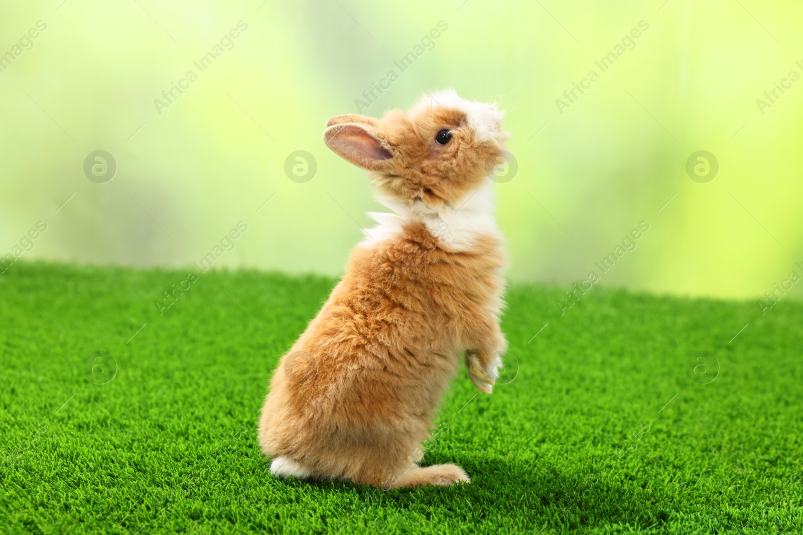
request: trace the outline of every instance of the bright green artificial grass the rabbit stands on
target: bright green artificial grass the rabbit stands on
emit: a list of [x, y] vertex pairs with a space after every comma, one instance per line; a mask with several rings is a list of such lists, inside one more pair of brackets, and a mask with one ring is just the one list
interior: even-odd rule
[[803, 530], [799, 302], [595, 286], [560, 315], [563, 289], [512, 286], [507, 384], [478, 395], [461, 367], [426, 444], [471, 484], [385, 492], [276, 480], [256, 440], [335, 281], [210, 271], [160, 315], [186, 278], [0, 276], [0, 533]]

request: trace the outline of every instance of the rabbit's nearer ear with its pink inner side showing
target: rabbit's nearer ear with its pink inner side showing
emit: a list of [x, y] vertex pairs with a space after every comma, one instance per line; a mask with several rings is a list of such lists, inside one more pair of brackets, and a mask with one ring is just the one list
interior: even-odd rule
[[346, 161], [369, 171], [381, 171], [390, 167], [393, 153], [366, 124], [333, 124], [324, 132], [324, 141]]

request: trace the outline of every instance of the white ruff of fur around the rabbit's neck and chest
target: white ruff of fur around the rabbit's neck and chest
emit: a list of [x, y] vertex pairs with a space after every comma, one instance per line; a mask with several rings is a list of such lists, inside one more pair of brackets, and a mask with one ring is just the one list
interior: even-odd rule
[[370, 247], [401, 235], [404, 225], [417, 221], [422, 221], [441, 245], [454, 251], [471, 250], [479, 236], [501, 237], [494, 217], [495, 193], [492, 186], [491, 180], [486, 179], [454, 207], [445, 206], [442, 209], [431, 209], [421, 201], [405, 204], [388, 197], [378, 197], [381, 205], [395, 213], [369, 212], [368, 215], [379, 225], [365, 229], [366, 237], [360, 245]]

